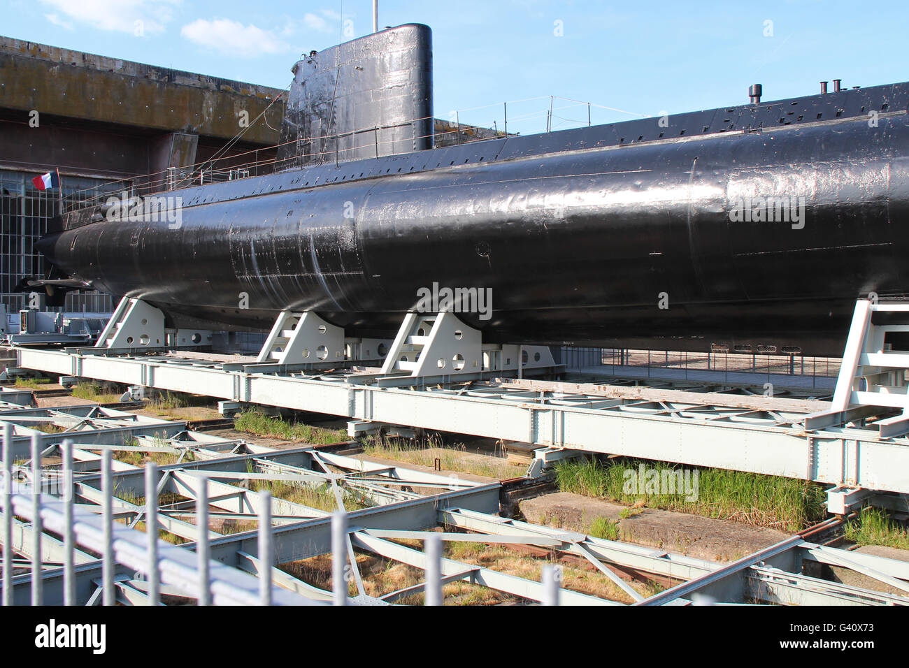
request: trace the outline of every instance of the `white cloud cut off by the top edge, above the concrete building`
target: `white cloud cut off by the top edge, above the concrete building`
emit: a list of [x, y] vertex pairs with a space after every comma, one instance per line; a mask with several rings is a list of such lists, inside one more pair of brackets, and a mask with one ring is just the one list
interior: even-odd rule
[[[91, 25], [99, 30], [113, 30], [135, 35], [141, 28], [143, 34], [162, 33], [165, 25], [173, 20], [173, 7], [181, 0], [41, 0], [77, 24]], [[56, 13], [45, 14], [54, 25], [67, 26]], [[71, 24], [69, 24], [72, 27]]]

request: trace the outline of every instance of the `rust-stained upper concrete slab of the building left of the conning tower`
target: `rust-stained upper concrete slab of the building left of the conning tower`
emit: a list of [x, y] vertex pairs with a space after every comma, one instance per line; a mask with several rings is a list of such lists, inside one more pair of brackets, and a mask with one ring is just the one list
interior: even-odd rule
[[[281, 91], [261, 85], [84, 54], [0, 36], [0, 107], [127, 127], [230, 139]], [[265, 114], [279, 127], [284, 101]], [[278, 135], [258, 123], [246, 142], [275, 145]]]

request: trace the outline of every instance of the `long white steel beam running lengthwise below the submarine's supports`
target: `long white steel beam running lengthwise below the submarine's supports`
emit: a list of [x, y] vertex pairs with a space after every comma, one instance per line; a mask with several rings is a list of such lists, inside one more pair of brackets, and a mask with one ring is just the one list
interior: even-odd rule
[[[709, 394], [704, 395], [704, 406], [669, 404], [667, 410], [665, 402], [628, 404], [617, 399], [615, 404], [592, 408], [583, 405], [591, 398], [581, 397], [580, 405], [560, 404], [553, 401], [558, 397], [522, 393], [520, 387], [414, 390], [346, 382], [344, 374], [242, 374], [169, 364], [160, 358], [25, 348], [17, 349], [17, 354], [20, 365], [49, 373], [145, 384], [355, 420], [909, 494], [909, 439], [882, 439], [873, 430], [845, 427], [807, 432], [800, 424], [807, 412], [711, 409]], [[763, 398], [761, 403], [765, 403]]]

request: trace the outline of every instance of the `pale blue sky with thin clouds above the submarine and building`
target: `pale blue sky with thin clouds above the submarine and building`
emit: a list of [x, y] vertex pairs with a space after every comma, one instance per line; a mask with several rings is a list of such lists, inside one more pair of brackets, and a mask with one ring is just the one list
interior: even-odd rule
[[[277, 88], [300, 54], [372, 30], [371, 0], [0, 5], [2, 35]], [[740, 104], [753, 83], [771, 100], [904, 81], [907, 18], [901, 2], [379, 2], [380, 27], [433, 28], [436, 115], [501, 127], [503, 101], [537, 98], [509, 105], [524, 133], [544, 129], [549, 95], [621, 110], [592, 107], [595, 124]], [[586, 125], [585, 106], [553, 106], [554, 129]]]

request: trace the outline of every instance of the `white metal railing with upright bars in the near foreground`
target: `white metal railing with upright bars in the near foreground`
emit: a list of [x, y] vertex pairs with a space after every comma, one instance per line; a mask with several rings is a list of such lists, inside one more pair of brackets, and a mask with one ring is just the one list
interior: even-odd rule
[[[209, 538], [204, 531], [198, 533], [195, 553], [185, 546], [166, 543], [159, 538], [158, 492], [159, 475], [157, 466], [145, 464], [145, 507], [141, 517], [145, 531], [136, 527], [138, 518], [129, 526], [115, 522], [112, 450], [105, 448], [101, 455], [101, 512], [75, 503], [74, 444], [65, 440], [60, 470], [43, 469], [42, 457], [47, 454], [39, 434], [34, 434], [31, 443], [29, 467], [15, 466], [13, 462], [13, 427], [4, 424], [2, 477], [0, 477], [0, 509], [2, 509], [3, 533], [3, 605], [15, 603], [13, 526], [14, 516], [31, 523], [31, 566], [32, 605], [45, 602], [43, 585], [45, 563], [43, 548], [45, 541], [56, 539], [48, 533], [63, 538], [63, 603], [75, 605], [76, 600], [76, 553], [101, 555], [102, 578], [98, 593], [104, 605], [117, 603], [118, 566], [125, 566], [135, 577], [145, 578], [145, 603], [158, 605], [162, 587], [169, 592], [195, 598], [200, 605], [325, 605], [326, 601], [305, 597], [291, 592], [274, 582], [270, 577], [275, 564], [274, 527], [272, 523], [271, 494], [261, 491], [263, 503], [258, 511], [258, 556], [259, 577], [220, 563], [211, 558]], [[52, 446], [53, 447], [53, 446]], [[200, 474], [205, 477], [205, 474]], [[54, 490], [54, 494], [48, 492]], [[209, 497], [207, 485], [199, 485], [195, 498], [196, 525], [208, 525]], [[347, 558], [351, 546], [346, 513], [336, 511], [332, 516], [332, 583], [335, 605], [355, 603], [348, 596]], [[81, 551], [77, 548], [82, 548]], [[442, 548], [437, 536], [429, 536], [425, 543], [425, 604], [442, 604]], [[80, 566], [84, 566], [81, 563]], [[547, 570], [546, 573], [549, 573]], [[265, 576], [263, 576], [265, 575]], [[545, 575], [546, 602], [557, 601], [558, 579], [553, 573]], [[134, 578], [135, 579], [135, 578]]]

